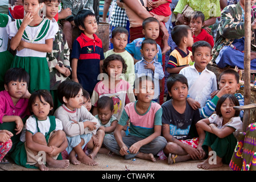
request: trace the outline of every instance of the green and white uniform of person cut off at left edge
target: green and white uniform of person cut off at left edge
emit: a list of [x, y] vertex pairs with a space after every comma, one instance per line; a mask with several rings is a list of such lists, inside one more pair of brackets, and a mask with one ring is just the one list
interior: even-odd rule
[[11, 23], [11, 17], [6, 14], [0, 14], [0, 91], [5, 90], [3, 86], [3, 78], [6, 71], [11, 67], [13, 63], [13, 55], [7, 51], [8, 48], [8, 34], [7, 25]]

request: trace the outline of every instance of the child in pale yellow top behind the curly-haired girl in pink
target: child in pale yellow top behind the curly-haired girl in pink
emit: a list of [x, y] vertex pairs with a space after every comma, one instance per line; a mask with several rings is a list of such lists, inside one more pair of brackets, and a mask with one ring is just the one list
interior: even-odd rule
[[122, 80], [128, 81], [129, 84], [133, 87], [134, 80], [135, 80], [135, 73], [134, 73], [134, 61], [133, 56], [130, 55], [129, 52], [126, 51], [125, 47], [127, 45], [129, 32], [124, 27], [115, 27], [112, 31], [112, 38], [110, 42], [113, 43], [114, 48], [106, 51], [104, 53], [105, 57], [109, 55], [120, 55], [125, 60], [127, 64], [126, 73], [120, 78]]

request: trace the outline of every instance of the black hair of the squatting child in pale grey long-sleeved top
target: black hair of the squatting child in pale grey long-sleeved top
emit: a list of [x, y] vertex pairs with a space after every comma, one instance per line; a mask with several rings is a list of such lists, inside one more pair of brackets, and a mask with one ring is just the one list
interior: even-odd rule
[[60, 85], [57, 88], [57, 96], [59, 98], [59, 101], [61, 104], [64, 104], [63, 97], [67, 98], [74, 98], [79, 93], [80, 89], [82, 89], [82, 85], [78, 82], [75, 82], [73, 80], [65, 80], [60, 83]]

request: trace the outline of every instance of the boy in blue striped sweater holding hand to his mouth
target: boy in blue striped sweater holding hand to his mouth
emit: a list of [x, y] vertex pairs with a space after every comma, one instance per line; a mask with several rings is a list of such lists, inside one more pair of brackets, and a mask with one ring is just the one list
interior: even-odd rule
[[[216, 95], [210, 96], [201, 109], [201, 118], [208, 118], [216, 109], [217, 102], [224, 94], [234, 94], [240, 106], [244, 105], [244, 98], [241, 93], [236, 93], [240, 89], [240, 76], [234, 69], [226, 69], [221, 72], [218, 79], [218, 88], [220, 89]], [[240, 118], [243, 118], [243, 110], [240, 111]]]

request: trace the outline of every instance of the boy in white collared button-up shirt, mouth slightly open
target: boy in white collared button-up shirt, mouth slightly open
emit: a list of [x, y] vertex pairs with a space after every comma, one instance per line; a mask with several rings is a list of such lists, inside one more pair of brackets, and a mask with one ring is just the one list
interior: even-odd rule
[[216, 75], [207, 69], [212, 59], [212, 47], [208, 42], [199, 41], [192, 46], [192, 66], [181, 69], [180, 74], [188, 80], [187, 101], [193, 109], [199, 109], [205, 105], [210, 94], [217, 90]]

